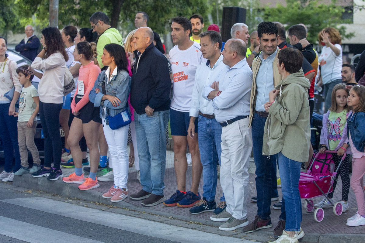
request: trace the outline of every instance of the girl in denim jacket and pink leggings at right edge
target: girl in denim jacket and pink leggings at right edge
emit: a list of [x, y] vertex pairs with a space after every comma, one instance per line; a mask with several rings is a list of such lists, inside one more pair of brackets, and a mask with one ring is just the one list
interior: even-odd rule
[[352, 113], [347, 118], [349, 128], [349, 144], [352, 152], [351, 189], [355, 193], [357, 212], [347, 219], [348, 226], [365, 225], [365, 86], [355, 85], [350, 89], [347, 105], [351, 106]]

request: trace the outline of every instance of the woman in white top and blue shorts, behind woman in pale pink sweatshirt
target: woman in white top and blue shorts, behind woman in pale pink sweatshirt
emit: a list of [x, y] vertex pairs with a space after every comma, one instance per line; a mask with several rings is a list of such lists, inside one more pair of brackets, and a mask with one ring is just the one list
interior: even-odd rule
[[[66, 26], [61, 31], [62, 41], [65, 43], [66, 52], [69, 57], [66, 62], [66, 68], [70, 68], [73, 63], [73, 50], [75, 50], [75, 44], [73, 39], [76, 38], [77, 28], [74, 26]], [[70, 109], [71, 109], [71, 94], [64, 96], [64, 102], [62, 105], [62, 110], [59, 113], [59, 124], [61, 124], [62, 129], [64, 129], [65, 133], [65, 148], [62, 149], [61, 160], [67, 162], [71, 156], [70, 147], [67, 143], [67, 138], [70, 132], [69, 126], [69, 118], [70, 118]]]

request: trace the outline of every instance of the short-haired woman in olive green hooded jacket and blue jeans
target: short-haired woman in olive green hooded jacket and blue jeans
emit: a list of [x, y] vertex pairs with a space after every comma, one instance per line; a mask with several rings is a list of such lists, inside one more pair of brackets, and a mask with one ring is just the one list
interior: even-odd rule
[[265, 123], [262, 154], [278, 154], [285, 230], [276, 242], [294, 242], [304, 236], [300, 228], [301, 201], [299, 177], [301, 162], [308, 160], [310, 120], [308, 89], [310, 82], [300, 71], [303, 54], [293, 48], [280, 50], [278, 71], [283, 80], [269, 93], [265, 110], [269, 113]]

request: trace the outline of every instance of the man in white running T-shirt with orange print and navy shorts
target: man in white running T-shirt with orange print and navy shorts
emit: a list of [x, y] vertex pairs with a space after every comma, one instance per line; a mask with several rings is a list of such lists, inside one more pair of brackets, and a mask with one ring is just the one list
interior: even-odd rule
[[[203, 166], [200, 162], [198, 136], [188, 136], [189, 110], [195, 82], [196, 68], [206, 60], [200, 51], [200, 45], [189, 39], [192, 30], [190, 21], [185, 17], [174, 17], [171, 24], [172, 41], [176, 46], [170, 50], [173, 72], [173, 98], [170, 109], [171, 135], [174, 141], [174, 166], [177, 180], [177, 191], [170, 199], [164, 201], [166, 206], [192, 207], [201, 197], [198, 187]], [[195, 120], [197, 133], [197, 120]], [[192, 158], [192, 185], [187, 192], [186, 157], [187, 144]]]

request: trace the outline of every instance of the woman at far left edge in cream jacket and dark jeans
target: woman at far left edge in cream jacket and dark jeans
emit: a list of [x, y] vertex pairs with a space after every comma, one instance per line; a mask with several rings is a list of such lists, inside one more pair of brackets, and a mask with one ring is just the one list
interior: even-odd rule
[[[22, 92], [16, 68], [16, 62], [8, 58], [6, 54], [7, 41], [0, 37], [0, 137], [4, 148], [4, 171], [0, 174], [0, 180], [11, 182], [14, 172], [20, 169], [20, 153], [18, 145], [18, 118], [14, 117], [15, 104]], [[12, 94], [10, 94], [12, 93]], [[13, 157], [15, 151], [15, 167], [13, 169]], [[13, 171], [13, 172], [11, 172]]]

